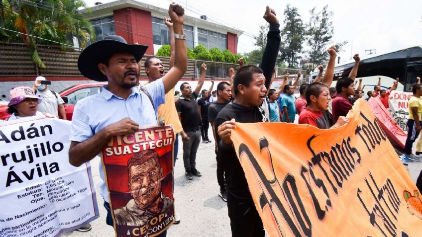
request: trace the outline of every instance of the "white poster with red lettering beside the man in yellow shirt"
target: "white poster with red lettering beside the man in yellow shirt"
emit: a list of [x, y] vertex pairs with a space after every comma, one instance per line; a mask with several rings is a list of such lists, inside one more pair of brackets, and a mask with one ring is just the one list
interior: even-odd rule
[[389, 96], [390, 108], [388, 111], [396, 123], [405, 133], [408, 133], [407, 123], [409, 120], [409, 99], [411, 92], [393, 90]]

